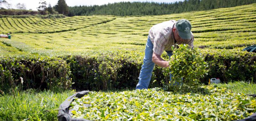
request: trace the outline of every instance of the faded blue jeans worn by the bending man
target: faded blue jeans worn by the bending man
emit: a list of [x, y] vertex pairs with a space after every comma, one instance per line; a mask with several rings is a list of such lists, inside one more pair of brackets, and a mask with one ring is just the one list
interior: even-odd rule
[[[148, 37], [148, 41], [145, 49], [145, 56], [143, 58], [143, 65], [141, 66], [139, 83], [136, 86], [136, 89], [148, 89], [149, 82], [151, 80], [152, 72], [155, 66], [155, 63], [152, 61], [153, 55], [153, 43]], [[172, 51], [166, 51], [169, 58], [172, 56]], [[172, 80], [172, 74], [170, 74], [170, 81]]]

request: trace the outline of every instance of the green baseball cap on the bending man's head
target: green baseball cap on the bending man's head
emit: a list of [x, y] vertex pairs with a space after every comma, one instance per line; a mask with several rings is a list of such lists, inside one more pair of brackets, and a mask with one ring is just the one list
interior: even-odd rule
[[191, 39], [191, 28], [190, 22], [186, 19], [180, 19], [176, 22], [176, 29], [178, 29], [182, 39]]

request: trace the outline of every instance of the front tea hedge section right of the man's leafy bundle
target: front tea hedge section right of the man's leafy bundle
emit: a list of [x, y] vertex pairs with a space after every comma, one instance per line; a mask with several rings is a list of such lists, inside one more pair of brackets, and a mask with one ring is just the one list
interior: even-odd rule
[[256, 81], [256, 53], [226, 49], [203, 49], [209, 63], [209, 78], [219, 77], [222, 82]]

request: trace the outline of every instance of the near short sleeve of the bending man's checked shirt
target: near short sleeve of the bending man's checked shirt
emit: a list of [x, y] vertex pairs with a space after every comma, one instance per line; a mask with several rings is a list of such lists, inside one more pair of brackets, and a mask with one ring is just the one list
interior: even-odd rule
[[164, 45], [166, 42], [167, 40], [165, 39], [164, 35], [159, 32], [154, 39], [153, 51], [156, 54], [161, 55], [164, 52]]

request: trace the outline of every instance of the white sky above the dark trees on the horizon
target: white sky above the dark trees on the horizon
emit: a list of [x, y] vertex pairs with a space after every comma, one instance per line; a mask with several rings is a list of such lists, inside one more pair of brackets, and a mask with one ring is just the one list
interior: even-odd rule
[[[12, 8], [16, 9], [16, 4], [24, 3], [26, 5], [27, 10], [37, 10], [36, 8], [39, 6], [40, 0], [6, 0], [9, 4], [12, 4]], [[52, 6], [57, 4], [58, 0], [45, 0], [47, 2], [47, 6], [50, 3]], [[175, 1], [183, 1], [183, 0], [66, 0], [68, 6], [79, 6], [79, 5], [102, 5], [108, 3], [117, 3], [117, 2], [166, 2], [172, 3]]]

